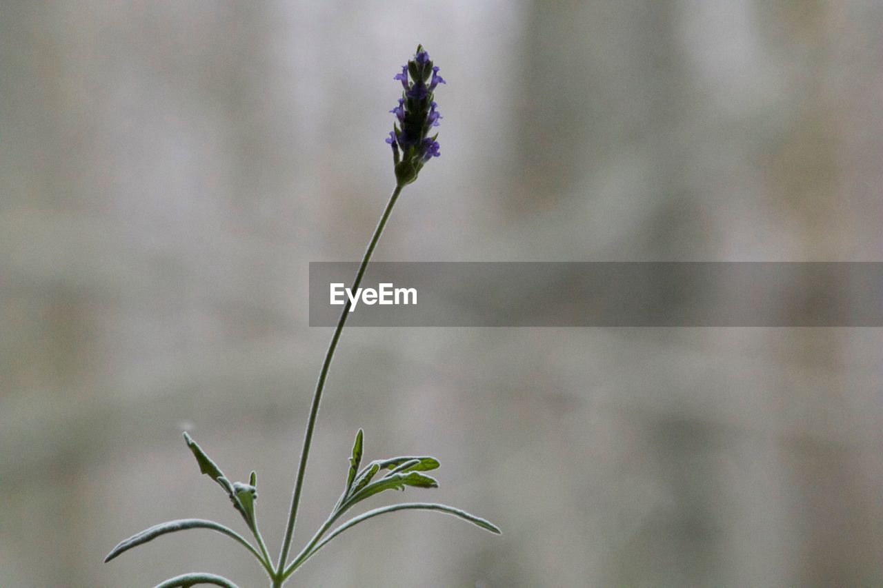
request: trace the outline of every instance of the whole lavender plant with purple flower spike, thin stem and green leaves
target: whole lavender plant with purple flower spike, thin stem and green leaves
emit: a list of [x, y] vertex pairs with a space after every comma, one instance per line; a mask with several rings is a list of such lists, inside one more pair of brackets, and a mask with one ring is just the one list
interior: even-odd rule
[[[438, 74], [439, 67], [434, 65], [429, 58], [429, 54], [422, 46], [417, 48], [413, 59], [408, 64], [402, 66], [402, 72], [396, 74], [394, 79], [402, 82], [404, 91], [402, 97], [398, 101], [398, 106], [390, 110], [396, 115], [396, 123], [393, 131], [389, 132], [387, 143], [392, 146], [393, 163], [396, 172], [396, 188], [389, 197], [389, 202], [381, 215], [380, 222], [374, 230], [374, 236], [368, 242], [365, 255], [359, 265], [356, 277], [353, 280], [351, 290], [357, 290], [362, 281], [368, 262], [374, 253], [378, 240], [381, 237], [383, 228], [389, 220], [389, 215], [393, 207], [396, 205], [399, 194], [405, 185], [414, 182], [420, 170], [433, 157], [438, 157], [439, 144], [436, 140], [438, 134], [429, 136], [429, 132], [433, 127], [439, 125], [442, 115], [438, 112], [437, 104], [434, 102], [434, 90], [439, 84], [444, 84], [445, 80]], [[343, 524], [340, 524], [333, 531], [331, 527], [336, 521], [343, 516], [352, 507], [359, 502], [381, 493], [385, 490], [404, 490], [405, 486], [416, 488], [435, 488], [438, 482], [426, 475], [425, 471], [431, 471], [439, 467], [437, 459], [431, 456], [398, 456], [389, 459], [374, 460], [366, 466], [362, 466], [362, 456], [364, 449], [364, 433], [361, 429], [356, 433], [356, 441], [352, 446], [350, 457], [350, 467], [346, 475], [346, 484], [343, 486], [343, 494], [337, 500], [334, 509], [321, 524], [320, 528], [315, 531], [312, 539], [307, 541], [306, 546], [289, 561], [289, 553], [291, 551], [291, 542], [294, 537], [295, 520], [298, 515], [298, 505], [300, 503], [301, 491], [303, 489], [304, 479], [306, 477], [306, 460], [310, 454], [310, 445], [313, 441], [313, 430], [316, 424], [316, 417], [319, 414], [319, 404], [321, 403], [322, 392], [325, 389], [325, 382], [328, 379], [328, 370], [331, 366], [331, 360], [340, 341], [340, 335], [343, 333], [343, 327], [346, 324], [347, 317], [350, 314], [351, 299], [348, 299], [343, 305], [343, 311], [334, 335], [331, 336], [331, 342], [328, 344], [325, 359], [322, 362], [319, 372], [319, 381], [316, 383], [315, 392], [313, 393], [313, 403], [310, 408], [310, 415], [307, 419], [306, 434], [304, 436], [304, 445], [301, 450], [300, 464], [298, 466], [298, 477], [295, 481], [294, 492], [291, 498], [291, 509], [289, 510], [288, 524], [283, 537], [282, 550], [279, 558], [274, 563], [269, 555], [267, 545], [260, 534], [258, 527], [257, 512], [255, 502], [258, 498], [257, 493], [257, 475], [253, 471], [249, 476], [248, 483], [230, 482], [223, 471], [213, 462], [208, 455], [193, 441], [187, 433], [184, 433], [187, 446], [196, 456], [197, 464], [200, 466], [200, 472], [207, 474], [209, 478], [215, 480], [223, 491], [230, 498], [233, 508], [236, 509], [245, 521], [245, 526], [251, 531], [256, 546], [248, 539], [245, 539], [237, 531], [233, 531], [229, 527], [198, 518], [181, 519], [170, 521], [167, 523], [157, 524], [145, 531], [133, 535], [129, 539], [120, 542], [114, 547], [105, 562], [117, 557], [132, 547], [137, 547], [143, 543], [147, 543], [151, 539], [155, 539], [161, 535], [165, 535], [174, 531], [184, 531], [186, 529], [210, 529], [218, 531], [237, 541], [245, 549], [251, 553], [260, 565], [267, 571], [270, 585], [272, 588], [279, 588], [286, 583], [292, 574], [297, 571], [313, 554], [316, 554], [322, 547], [325, 547], [331, 539], [351, 528], [352, 526], [362, 523], [374, 516], [380, 516], [388, 512], [396, 510], [434, 510], [436, 512], [447, 513], [449, 515], [458, 516], [465, 521], [476, 524], [479, 527], [500, 533], [500, 530], [483, 518], [471, 515], [460, 509], [455, 509], [444, 504], [434, 502], [405, 502], [393, 504], [380, 509], [369, 510], [359, 516], [355, 516]], [[185, 586], [193, 586], [196, 584], [215, 584], [226, 588], [236, 588], [229, 579], [215, 574], [208, 573], [189, 573], [177, 576], [157, 584], [156, 588], [178, 588]]]

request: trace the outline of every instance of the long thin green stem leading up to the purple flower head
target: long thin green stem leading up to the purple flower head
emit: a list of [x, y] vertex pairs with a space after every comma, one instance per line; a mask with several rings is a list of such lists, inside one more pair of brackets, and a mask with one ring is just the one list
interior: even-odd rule
[[[368, 267], [368, 261], [371, 260], [371, 255], [374, 253], [374, 247], [377, 246], [377, 241], [381, 238], [381, 233], [383, 232], [383, 227], [386, 226], [387, 221], [389, 220], [389, 214], [392, 212], [392, 207], [396, 205], [396, 200], [398, 200], [398, 195], [402, 192], [403, 185], [396, 185], [396, 189], [392, 191], [392, 195], [389, 197], [389, 203], [387, 204], [386, 209], [383, 211], [383, 215], [381, 215], [380, 222], [377, 223], [377, 228], [374, 229], [374, 237], [371, 237], [371, 242], [368, 243], [368, 246], [365, 250], [365, 256], [362, 258], [362, 263], [358, 267], [358, 272], [356, 273], [356, 278], [352, 282], [352, 290], [355, 291], [358, 289], [358, 285], [362, 282], [362, 276], [365, 275], [365, 270]], [[306, 434], [304, 435], [304, 449], [301, 450], [300, 453], [300, 465], [298, 466], [298, 478], [294, 483], [294, 494], [291, 497], [291, 509], [288, 514], [288, 527], [285, 530], [285, 538], [283, 539], [282, 551], [279, 554], [279, 562], [276, 566], [277, 574], [285, 569], [285, 564], [288, 560], [288, 554], [291, 550], [291, 538], [294, 536], [294, 522], [298, 516], [298, 504], [300, 503], [300, 493], [301, 489], [304, 486], [304, 474], [306, 473], [306, 459], [310, 455], [310, 444], [313, 442], [313, 429], [316, 425], [316, 415], [319, 414], [319, 403], [322, 399], [322, 391], [325, 389], [325, 381], [328, 378], [328, 368], [331, 366], [331, 359], [334, 358], [334, 352], [337, 348], [337, 342], [340, 340], [340, 335], [343, 332], [343, 326], [346, 324], [346, 319], [350, 315], [350, 306], [351, 301], [347, 298], [346, 303], [343, 305], [343, 312], [340, 314], [340, 319], [337, 320], [337, 327], [335, 328], [334, 335], [331, 336], [331, 343], [328, 343], [328, 351], [325, 353], [325, 361], [322, 363], [322, 369], [319, 373], [319, 381], [316, 382], [316, 390], [313, 392], [313, 405], [310, 407], [310, 418], [306, 421]], [[278, 577], [274, 581], [274, 586], [281, 586], [284, 580], [281, 577]]]

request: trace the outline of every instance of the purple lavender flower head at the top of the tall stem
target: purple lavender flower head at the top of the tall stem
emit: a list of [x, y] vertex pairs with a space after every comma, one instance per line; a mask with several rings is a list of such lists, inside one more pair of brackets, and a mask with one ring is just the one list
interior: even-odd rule
[[428, 136], [432, 127], [438, 126], [442, 119], [442, 114], [436, 110], [438, 105], [433, 100], [433, 92], [439, 84], [447, 82], [438, 72], [439, 67], [419, 45], [413, 59], [393, 78], [402, 82], [404, 91], [398, 106], [389, 110], [396, 115], [396, 124], [386, 142], [392, 147], [399, 185], [411, 184], [426, 162], [441, 155], [439, 143], [435, 140], [438, 134]]

